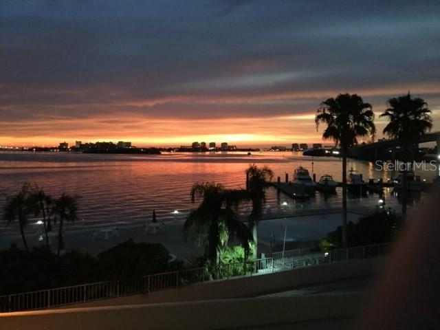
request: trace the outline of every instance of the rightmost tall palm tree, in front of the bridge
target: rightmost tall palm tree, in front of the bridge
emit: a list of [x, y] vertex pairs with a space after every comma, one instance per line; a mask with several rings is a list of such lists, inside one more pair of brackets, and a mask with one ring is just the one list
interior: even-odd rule
[[[388, 120], [383, 133], [399, 142], [403, 160], [407, 163], [408, 153], [412, 151], [410, 150], [412, 146], [417, 144], [421, 135], [432, 129], [431, 111], [423, 99], [412, 98], [409, 91], [404, 96], [390, 98], [388, 106], [388, 109], [380, 115], [381, 118]], [[406, 170], [402, 173], [401, 212], [404, 218], [406, 217], [406, 195], [408, 193], [407, 173]]]

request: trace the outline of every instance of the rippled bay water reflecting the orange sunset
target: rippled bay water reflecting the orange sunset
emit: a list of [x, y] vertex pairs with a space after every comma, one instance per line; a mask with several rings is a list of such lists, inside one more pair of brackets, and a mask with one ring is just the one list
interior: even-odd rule
[[[300, 153], [164, 153], [162, 155], [91, 155], [66, 153], [0, 153], [0, 192], [17, 192], [25, 181], [39, 184], [51, 195], [65, 191], [80, 195], [80, 221], [83, 224], [133, 223], [151, 219], [156, 210], [160, 221], [184, 219], [190, 208], [190, 188], [195, 181], [215, 181], [228, 188], [245, 186], [245, 169], [249, 164], [267, 165], [275, 176], [284, 179], [294, 168], [305, 166], [320, 175], [341, 180], [341, 160], [333, 157], [305, 157]], [[348, 168], [358, 170], [364, 178], [388, 179], [396, 173], [380, 171], [372, 163], [349, 160]], [[418, 173], [432, 179], [434, 173]], [[276, 178], [274, 178], [276, 180]], [[0, 206], [5, 202], [0, 197]], [[265, 217], [294, 214], [296, 210], [338, 208], [341, 191], [325, 198], [319, 192], [308, 201], [294, 201], [274, 188], [267, 191]], [[423, 196], [422, 196], [423, 198]], [[377, 195], [349, 199], [349, 206], [374, 206]], [[415, 203], [418, 201], [415, 198]], [[391, 190], [386, 192], [387, 206], [398, 208]], [[287, 205], [286, 205], [287, 204]], [[175, 214], [175, 210], [178, 211]], [[249, 205], [241, 206], [247, 214]], [[3, 228], [3, 226], [1, 226]]]

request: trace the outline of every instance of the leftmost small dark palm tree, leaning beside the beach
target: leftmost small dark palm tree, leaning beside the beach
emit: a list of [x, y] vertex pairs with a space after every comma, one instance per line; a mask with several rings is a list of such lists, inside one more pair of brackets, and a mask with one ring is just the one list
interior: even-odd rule
[[12, 221], [19, 221], [21, 239], [23, 239], [23, 245], [26, 250], [29, 250], [29, 248], [26, 242], [24, 228], [28, 225], [28, 217], [33, 210], [29, 199], [29, 190], [30, 184], [23, 184], [23, 187], [17, 195], [8, 197], [3, 212], [3, 218], [8, 222], [8, 225]]

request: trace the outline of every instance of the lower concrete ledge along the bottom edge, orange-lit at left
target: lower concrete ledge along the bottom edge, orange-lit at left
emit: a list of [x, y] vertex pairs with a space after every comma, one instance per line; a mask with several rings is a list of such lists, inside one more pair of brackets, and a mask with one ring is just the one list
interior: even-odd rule
[[362, 311], [364, 296], [241, 298], [113, 307], [52, 309], [0, 315], [1, 329], [322, 329], [347, 326]]

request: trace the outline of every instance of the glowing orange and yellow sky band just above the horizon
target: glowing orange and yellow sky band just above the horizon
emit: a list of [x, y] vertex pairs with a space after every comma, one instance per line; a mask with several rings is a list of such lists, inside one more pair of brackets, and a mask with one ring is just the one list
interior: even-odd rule
[[[396, 87], [389, 87], [387, 91], [395, 91]], [[432, 88], [431, 88], [432, 89]], [[397, 89], [396, 89], [397, 90]], [[355, 91], [353, 91], [355, 92]], [[364, 96], [364, 100], [369, 102], [369, 95], [379, 94], [378, 91], [362, 91], [360, 95]], [[329, 92], [330, 96], [336, 96], [334, 91]], [[383, 94], [380, 94], [383, 95]], [[393, 95], [393, 94], [391, 94]], [[395, 93], [395, 95], [399, 95]], [[299, 100], [299, 105], [292, 108], [292, 114], [276, 114], [270, 115], [271, 107], [278, 105], [278, 100], [286, 100], [287, 109], [289, 102], [295, 104], [296, 97], [301, 96], [307, 98], [309, 102], [304, 109], [303, 100]], [[260, 95], [250, 96], [248, 98], [237, 96], [230, 96], [222, 98], [217, 97], [201, 97], [197, 101], [192, 97], [179, 98], [174, 97], [163, 100], [150, 101], [129, 101], [120, 102], [114, 101], [109, 104], [67, 104], [63, 106], [51, 105], [52, 109], [63, 109], [61, 114], [41, 116], [36, 119], [21, 119], [14, 121], [0, 120], [0, 144], [13, 146], [32, 146], [32, 145], [46, 145], [54, 146], [59, 142], [69, 142], [74, 144], [76, 140], [83, 142], [96, 141], [113, 141], [120, 140], [131, 141], [136, 146], [180, 146], [189, 145], [194, 141], [198, 142], [228, 142], [229, 144], [236, 144], [239, 147], [247, 146], [272, 146], [285, 145], [289, 146], [292, 143], [313, 143], [322, 142], [322, 127], [316, 131], [314, 116], [316, 109], [322, 100], [329, 97], [323, 92], [311, 92], [306, 96], [303, 94], [278, 94], [278, 95]], [[290, 101], [287, 98], [291, 98]], [[384, 120], [380, 120], [379, 115], [386, 108], [386, 100], [388, 96], [383, 96], [383, 102], [380, 104], [373, 104], [373, 109], [376, 113], [377, 137], [382, 137], [380, 131], [384, 126]], [[435, 99], [434, 99], [435, 100]], [[430, 100], [427, 99], [428, 103]], [[164, 103], [162, 103], [164, 102]], [[157, 104], [167, 104], [167, 102], [177, 102], [181, 106], [200, 107], [200, 104], [206, 104], [207, 111], [201, 111], [200, 118], [173, 118], [168, 114], [168, 117], [162, 116], [162, 110], [151, 112], [151, 107]], [[249, 108], [241, 111], [239, 105], [243, 102], [250, 104]], [[284, 101], [283, 101], [284, 102]], [[225, 103], [227, 104], [225, 106]], [[147, 107], [149, 113], [133, 112], [124, 107], [129, 104], [131, 107]], [[182, 105], [183, 104], [183, 105]], [[221, 104], [222, 108], [210, 109], [210, 104], [214, 107]], [[230, 105], [229, 105], [230, 104]], [[283, 103], [285, 104], [285, 103]], [[246, 107], [249, 105], [246, 104]], [[252, 117], [252, 107], [264, 107], [265, 113], [259, 116]], [[17, 107], [17, 106], [16, 106]], [[72, 113], [76, 113], [76, 109], [85, 107], [91, 109], [86, 115], [72, 118]], [[236, 107], [236, 118], [231, 118]], [[299, 107], [299, 108], [298, 108]], [[22, 109], [23, 107], [19, 107]], [[105, 111], [105, 109], [113, 109], [113, 112]], [[3, 107], [8, 111], [14, 111], [14, 107]], [[94, 110], [96, 109], [96, 110]], [[115, 109], [120, 109], [115, 110]], [[228, 109], [228, 113], [224, 113], [223, 117], [210, 117], [210, 113], [216, 112], [216, 115], [222, 114], [221, 109]], [[249, 109], [249, 110], [247, 110]], [[439, 121], [440, 106], [434, 102], [430, 103], [432, 110], [432, 117], [435, 123]], [[284, 112], [287, 112], [283, 110]], [[281, 111], [281, 112], [283, 112]], [[106, 113], [107, 112], [107, 113]], [[197, 112], [197, 111], [196, 111]], [[278, 111], [279, 112], [279, 111]], [[66, 113], [70, 115], [63, 115]], [[90, 113], [90, 115], [88, 115]], [[153, 113], [153, 115], [151, 114]], [[166, 110], [164, 111], [166, 113]], [[192, 115], [194, 117], [194, 115]], [[331, 144], [331, 141], [325, 142]]]

